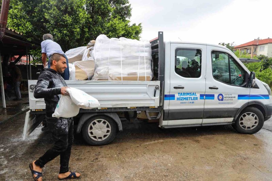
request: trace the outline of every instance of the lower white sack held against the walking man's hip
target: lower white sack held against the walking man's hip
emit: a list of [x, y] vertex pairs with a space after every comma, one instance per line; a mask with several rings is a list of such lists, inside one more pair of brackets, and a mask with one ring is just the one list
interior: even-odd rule
[[69, 96], [61, 95], [55, 112], [52, 114], [52, 117], [71, 118], [76, 116], [78, 113], [79, 107], [71, 100], [71, 98]]

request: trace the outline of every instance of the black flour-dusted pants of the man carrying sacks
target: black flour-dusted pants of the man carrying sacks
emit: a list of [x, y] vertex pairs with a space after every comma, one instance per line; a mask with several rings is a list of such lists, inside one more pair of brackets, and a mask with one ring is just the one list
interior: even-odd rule
[[47, 162], [60, 155], [60, 173], [68, 172], [71, 148], [73, 144], [73, 118], [46, 117], [47, 127], [52, 133], [54, 146], [47, 150], [35, 165], [44, 167]]

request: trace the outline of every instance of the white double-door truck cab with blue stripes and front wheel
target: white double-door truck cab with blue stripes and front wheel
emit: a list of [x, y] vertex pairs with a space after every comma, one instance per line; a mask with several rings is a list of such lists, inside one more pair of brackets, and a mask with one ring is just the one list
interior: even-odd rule
[[164, 42], [162, 128], [232, 124], [240, 133], [259, 131], [271, 117], [270, 87], [224, 46]]

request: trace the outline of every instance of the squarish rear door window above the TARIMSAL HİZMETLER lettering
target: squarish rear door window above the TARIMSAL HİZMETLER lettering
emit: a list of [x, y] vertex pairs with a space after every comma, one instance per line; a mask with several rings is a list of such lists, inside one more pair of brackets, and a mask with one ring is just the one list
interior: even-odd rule
[[201, 50], [178, 48], [175, 51], [175, 72], [187, 78], [201, 75]]

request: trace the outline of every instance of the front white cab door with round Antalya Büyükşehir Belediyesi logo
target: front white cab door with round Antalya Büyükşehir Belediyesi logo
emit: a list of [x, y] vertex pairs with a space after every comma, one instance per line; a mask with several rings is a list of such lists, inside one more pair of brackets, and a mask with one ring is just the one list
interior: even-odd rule
[[249, 101], [250, 88], [245, 87], [248, 71], [232, 52], [207, 46], [206, 93], [203, 122], [232, 122], [238, 109]]

